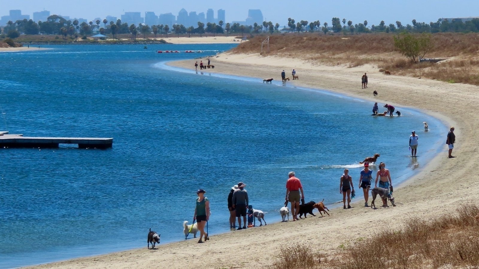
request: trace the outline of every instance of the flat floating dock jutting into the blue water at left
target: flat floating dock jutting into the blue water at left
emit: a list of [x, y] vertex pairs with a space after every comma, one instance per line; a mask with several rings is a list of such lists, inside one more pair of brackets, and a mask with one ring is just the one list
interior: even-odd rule
[[0, 148], [57, 148], [59, 144], [77, 144], [79, 148], [109, 148], [113, 138], [103, 137], [26, 137], [0, 131]]

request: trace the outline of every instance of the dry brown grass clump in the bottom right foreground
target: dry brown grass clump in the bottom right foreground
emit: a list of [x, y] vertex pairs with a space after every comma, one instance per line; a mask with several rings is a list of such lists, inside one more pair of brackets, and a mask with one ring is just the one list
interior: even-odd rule
[[281, 249], [272, 269], [422, 269], [479, 267], [479, 208], [464, 205], [431, 221], [413, 219], [385, 229], [326, 258], [313, 246]]

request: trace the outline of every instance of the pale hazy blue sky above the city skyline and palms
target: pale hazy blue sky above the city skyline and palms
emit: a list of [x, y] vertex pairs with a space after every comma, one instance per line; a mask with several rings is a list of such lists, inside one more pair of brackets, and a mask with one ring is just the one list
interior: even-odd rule
[[[294, 4], [292, 4], [294, 3]], [[438, 18], [479, 16], [479, 0], [333, 0], [333, 1], [295, 1], [295, 0], [1, 0], [0, 16], [8, 15], [9, 10], [19, 9], [23, 14], [33, 18], [34, 11], [48, 10], [50, 14], [67, 15], [71, 18], [92, 20], [112, 15], [120, 18], [125, 11], [171, 12], [178, 15], [182, 8], [186, 11], [205, 12], [209, 8], [215, 11], [224, 9], [226, 21], [244, 21], [248, 9], [261, 9], [266, 21], [287, 24], [291, 17], [296, 22], [319, 20], [321, 24], [331, 25], [332, 17], [353, 21], [353, 24], [368, 21], [368, 26], [379, 24], [381, 20], [388, 23], [435, 22]]]

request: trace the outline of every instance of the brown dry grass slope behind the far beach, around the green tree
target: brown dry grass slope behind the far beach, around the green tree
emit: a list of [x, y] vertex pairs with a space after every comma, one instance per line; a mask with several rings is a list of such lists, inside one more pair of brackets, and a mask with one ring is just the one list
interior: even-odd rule
[[[278, 34], [270, 36], [267, 55], [300, 58], [320, 65], [358, 67], [376, 65], [393, 75], [419, 76], [419, 65], [395, 50], [393, 34]], [[265, 36], [256, 36], [233, 49], [236, 53], [260, 53]], [[479, 35], [434, 34], [433, 50], [426, 57], [451, 57], [442, 63], [422, 63], [421, 77], [451, 83], [479, 85]], [[266, 54], [265, 54], [266, 55]]]

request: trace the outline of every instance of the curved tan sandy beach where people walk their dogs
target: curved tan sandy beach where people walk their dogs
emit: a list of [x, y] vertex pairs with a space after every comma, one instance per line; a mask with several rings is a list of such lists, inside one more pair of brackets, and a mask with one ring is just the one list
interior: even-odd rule
[[[175, 43], [173, 37], [171, 40], [166, 40]], [[194, 69], [194, 61], [180, 61], [170, 65]], [[264, 268], [274, 262], [280, 247], [288, 243], [309, 244], [325, 255], [332, 256], [341, 252], [340, 245], [347, 246], [355, 240], [370, 238], [382, 228], [399, 228], [415, 217], [430, 219], [453, 213], [460, 204], [476, 201], [478, 198], [479, 185], [476, 182], [479, 176], [475, 168], [475, 163], [479, 162], [479, 156], [476, 154], [479, 143], [477, 134], [479, 119], [475, 113], [479, 108], [478, 87], [429, 79], [385, 76], [374, 66], [353, 68], [322, 66], [315, 62], [291, 58], [291, 56], [262, 57], [259, 54], [223, 53], [218, 57], [212, 57], [211, 63], [215, 65], [215, 68], [206, 69], [205, 72], [254, 77], [258, 78], [258, 83], [262, 83], [262, 78], [274, 78], [274, 81], [280, 81], [280, 73], [283, 69], [286, 71], [286, 76], [292, 78], [291, 69], [295, 68], [299, 80], [286, 82], [290, 85], [360, 97], [372, 101], [371, 107], [374, 101], [377, 101], [379, 104], [390, 103], [423, 110], [444, 121], [445, 125], [455, 126], [456, 145], [453, 155], [457, 157], [448, 158], [447, 148], [443, 143], [444, 145], [439, 145], [441, 149], [437, 156], [428, 164], [418, 160], [422, 170], [406, 182], [400, 185], [394, 184], [394, 171], [391, 171], [397, 207], [372, 210], [364, 207], [363, 199], [355, 199], [352, 209], [331, 210], [329, 217], [308, 217], [297, 222], [268, 224], [213, 235], [204, 244], [187, 240], [160, 245], [156, 250], [142, 247], [40, 265], [35, 268], [147, 268], [152, 265], [168, 268]], [[365, 72], [369, 80], [368, 89], [361, 89], [361, 75]], [[225, 85], [225, 87], [228, 86]], [[264, 87], [270, 87], [270, 85], [264, 84]], [[373, 97], [373, 90], [378, 91], [377, 97]], [[371, 129], [381, 132], [376, 126], [371, 126]], [[418, 129], [422, 129], [422, 126], [418, 126], [416, 130]], [[387, 131], [384, 132], [386, 135]], [[407, 139], [410, 130], [404, 130], [404, 135]], [[418, 135], [421, 133], [418, 132]], [[444, 142], [445, 139], [446, 137]], [[420, 152], [421, 142], [418, 155]], [[301, 179], [301, 175], [297, 176]], [[286, 179], [287, 171], [285, 171]], [[357, 184], [357, 181], [355, 176], [354, 183]], [[278, 188], [284, 189], [284, 182], [279, 184]], [[312, 186], [304, 186], [304, 188], [307, 199], [320, 199], [320, 197], [308, 197], [308, 188]], [[360, 190], [356, 189], [356, 191]], [[338, 191], [338, 197], [339, 195]], [[280, 207], [282, 198], [278, 199], [278, 207]], [[118, 244], [121, 244], [121, 240]]]

